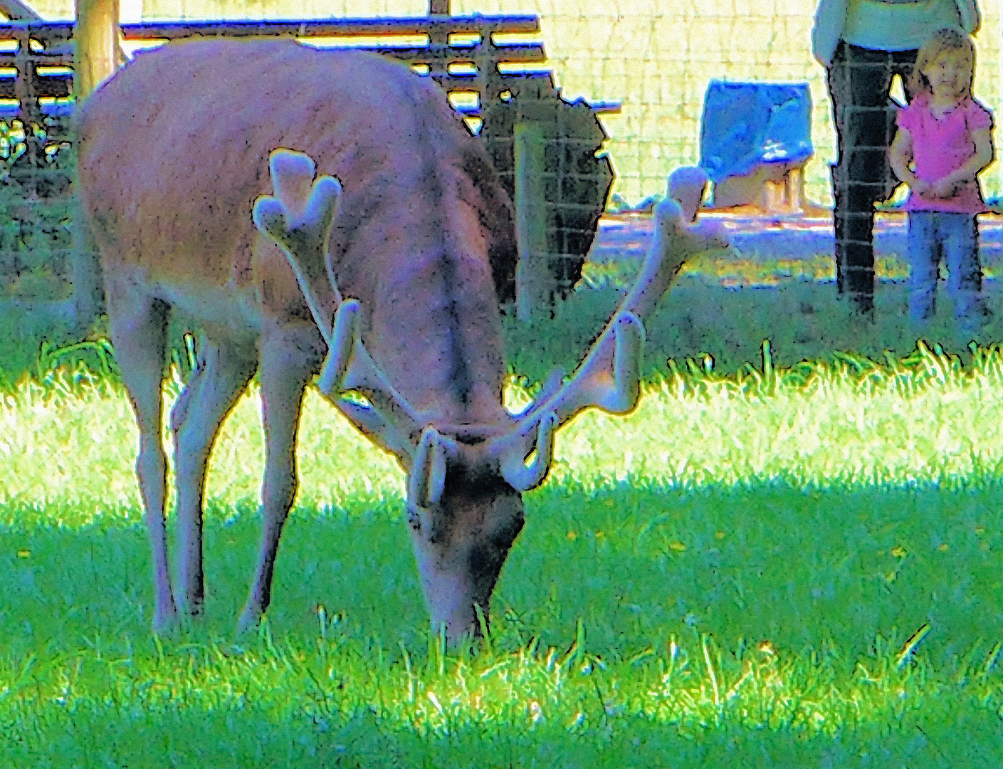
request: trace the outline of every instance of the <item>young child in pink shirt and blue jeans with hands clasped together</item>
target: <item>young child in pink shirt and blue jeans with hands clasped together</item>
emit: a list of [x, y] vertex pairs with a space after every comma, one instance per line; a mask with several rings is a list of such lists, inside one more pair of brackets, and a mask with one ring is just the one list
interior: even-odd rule
[[943, 255], [955, 318], [969, 339], [985, 314], [975, 216], [988, 209], [977, 176], [993, 159], [992, 113], [972, 97], [974, 70], [967, 35], [942, 29], [924, 43], [890, 150], [892, 168], [910, 186], [910, 317], [924, 321], [933, 314]]

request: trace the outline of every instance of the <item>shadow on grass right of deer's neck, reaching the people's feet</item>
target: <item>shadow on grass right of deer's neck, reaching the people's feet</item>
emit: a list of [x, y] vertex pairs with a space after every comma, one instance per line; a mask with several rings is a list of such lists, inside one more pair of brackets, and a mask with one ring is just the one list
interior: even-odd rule
[[[531, 380], [542, 380], [549, 368], [561, 364], [571, 371], [592, 339], [602, 329], [621, 294], [613, 288], [583, 290], [560, 307], [554, 321], [521, 325], [508, 318], [506, 342], [509, 365]], [[1003, 318], [1003, 297], [987, 294], [992, 319], [976, 341], [988, 346], [1001, 338], [996, 318]], [[926, 325], [909, 322], [906, 285], [883, 282], [875, 294], [875, 320], [863, 322], [851, 303], [839, 298], [832, 284], [785, 281], [770, 288], [729, 289], [710, 277], [682, 279], [646, 324], [644, 368], [667, 373], [667, 358], [681, 361], [707, 353], [714, 368], [731, 374], [743, 363], [758, 367], [762, 341], [768, 339], [773, 364], [787, 367], [802, 359], [831, 361], [833, 351], [853, 351], [883, 360], [883, 352], [897, 357], [916, 349], [920, 337], [940, 342], [948, 352], [968, 360], [968, 343], [942, 301]]]

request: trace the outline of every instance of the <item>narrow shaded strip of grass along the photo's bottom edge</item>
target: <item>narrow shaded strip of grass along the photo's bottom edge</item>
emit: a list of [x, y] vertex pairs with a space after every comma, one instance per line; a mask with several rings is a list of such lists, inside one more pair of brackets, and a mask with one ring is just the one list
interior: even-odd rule
[[[48, 710], [48, 709], [47, 709]], [[51, 708], [56, 711], [55, 707]], [[327, 719], [277, 722], [254, 703], [235, 716], [225, 709], [177, 709], [123, 715], [112, 706], [68, 721], [40, 714], [29, 728], [59, 724], [51, 738], [29, 748], [8, 731], [12, 760], [32, 766], [297, 766], [436, 767], [463, 769], [597, 769], [702, 767], [813, 769], [998, 766], [999, 730], [969, 712], [933, 707], [895, 724], [864, 725], [834, 735], [758, 731], [724, 726], [701, 739], [679, 735], [645, 718], [571, 733], [560, 724], [521, 732], [505, 725], [464, 725], [448, 736], [393, 729], [370, 712]], [[13, 739], [11, 739], [13, 738]]]

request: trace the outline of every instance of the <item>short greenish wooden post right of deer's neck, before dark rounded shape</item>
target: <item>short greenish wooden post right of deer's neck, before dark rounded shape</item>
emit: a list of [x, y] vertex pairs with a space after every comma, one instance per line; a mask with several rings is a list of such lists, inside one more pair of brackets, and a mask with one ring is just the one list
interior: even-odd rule
[[544, 184], [547, 135], [535, 120], [515, 125], [516, 317], [530, 321], [554, 302], [554, 276], [547, 238], [547, 197]]

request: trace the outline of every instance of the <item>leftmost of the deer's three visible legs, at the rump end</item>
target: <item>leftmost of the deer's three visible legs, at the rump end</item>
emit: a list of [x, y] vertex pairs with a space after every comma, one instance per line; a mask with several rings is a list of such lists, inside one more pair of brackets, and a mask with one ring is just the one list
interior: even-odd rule
[[166, 458], [160, 436], [160, 386], [166, 357], [169, 308], [134, 286], [123, 284], [124, 281], [109, 281], [109, 330], [122, 382], [139, 428], [135, 472], [146, 513], [152, 555], [153, 630], [163, 631], [177, 619], [168, 572], [168, 541], [163, 523]]

